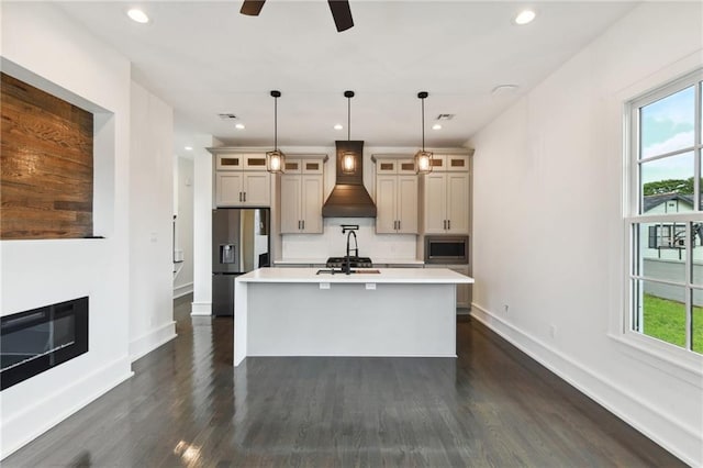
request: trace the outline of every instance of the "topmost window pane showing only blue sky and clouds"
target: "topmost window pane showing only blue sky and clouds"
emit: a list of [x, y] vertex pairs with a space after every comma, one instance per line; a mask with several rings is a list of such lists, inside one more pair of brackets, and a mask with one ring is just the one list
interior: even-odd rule
[[695, 88], [685, 88], [639, 110], [640, 158], [693, 146]]

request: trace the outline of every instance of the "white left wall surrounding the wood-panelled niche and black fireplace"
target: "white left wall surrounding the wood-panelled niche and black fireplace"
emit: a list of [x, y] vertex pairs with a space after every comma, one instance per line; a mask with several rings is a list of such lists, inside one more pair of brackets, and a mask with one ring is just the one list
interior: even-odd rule
[[2, 315], [89, 296], [89, 352], [2, 391], [0, 458], [131, 376], [130, 63], [47, 3], [1, 5], [2, 67], [96, 112], [96, 234], [3, 241]]

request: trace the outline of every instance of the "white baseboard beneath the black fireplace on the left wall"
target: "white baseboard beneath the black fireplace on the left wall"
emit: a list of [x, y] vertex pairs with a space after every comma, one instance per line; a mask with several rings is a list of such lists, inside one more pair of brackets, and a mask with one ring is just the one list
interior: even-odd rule
[[44, 400], [27, 405], [12, 419], [3, 420], [0, 427], [0, 459], [7, 458], [134, 375], [125, 369], [130, 369], [126, 356], [100, 367], [68, 387], [53, 388]]

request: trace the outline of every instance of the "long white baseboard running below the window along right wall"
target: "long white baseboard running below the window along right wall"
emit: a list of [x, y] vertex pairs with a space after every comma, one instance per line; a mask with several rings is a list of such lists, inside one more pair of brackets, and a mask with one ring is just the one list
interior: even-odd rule
[[593, 369], [561, 355], [486, 308], [473, 303], [471, 316], [684, 463], [703, 466], [703, 454], [700, 450], [703, 437], [695, 430], [682, 425], [650, 403], [628, 393]]

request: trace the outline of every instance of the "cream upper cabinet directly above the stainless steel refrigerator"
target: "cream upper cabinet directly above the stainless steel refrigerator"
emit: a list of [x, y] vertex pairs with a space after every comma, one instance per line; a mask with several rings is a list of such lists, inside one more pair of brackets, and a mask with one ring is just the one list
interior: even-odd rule
[[210, 148], [215, 155], [215, 204], [217, 207], [270, 207], [271, 176], [266, 155]]

